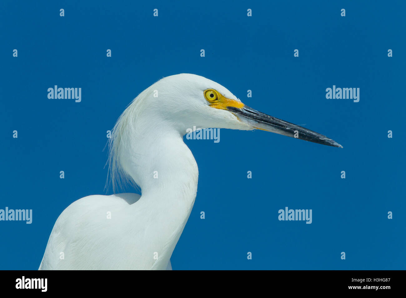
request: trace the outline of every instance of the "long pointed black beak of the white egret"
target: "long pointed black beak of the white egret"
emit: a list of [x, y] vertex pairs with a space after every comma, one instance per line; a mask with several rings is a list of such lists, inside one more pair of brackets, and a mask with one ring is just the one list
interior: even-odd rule
[[261, 113], [260, 111], [251, 109], [251, 107], [247, 107], [242, 103], [235, 107], [227, 106], [225, 109], [231, 111], [240, 119], [240, 121], [245, 122], [256, 129], [279, 133], [280, 135], [286, 135], [288, 137], [294, 137], [317, 144], [343, 148], [343, 146], [336, 141], [329, 139], [325, 135], [321, 135], [320, 133], [305, 129], [302, 126]]

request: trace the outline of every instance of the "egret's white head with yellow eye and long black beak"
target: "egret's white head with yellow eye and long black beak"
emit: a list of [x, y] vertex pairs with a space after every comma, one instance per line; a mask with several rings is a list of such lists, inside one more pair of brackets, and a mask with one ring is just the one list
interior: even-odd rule
[[186, 134], [187, 129], [261, 129], [318, 144], [341, 147], [332, 139], [304, 127], [261, 113], [244, 105], [227, 88], [201, 77], [182, 73], [165, 77], [139, 95], [141, 114], [158, 116]]

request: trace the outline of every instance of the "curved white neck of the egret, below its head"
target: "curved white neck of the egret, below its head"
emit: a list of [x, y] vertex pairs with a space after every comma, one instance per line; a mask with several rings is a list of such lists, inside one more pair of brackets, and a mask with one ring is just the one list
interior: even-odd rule
[[141, 188], [130, 214], [137, 225], [147, 224], [149, 246], [160, 255], [155, 265], [166, 268], [192, 211], [199, 171], [181, 131], [147, 120], [123, 131], [130, 139], [122, 142], [121, 165]]

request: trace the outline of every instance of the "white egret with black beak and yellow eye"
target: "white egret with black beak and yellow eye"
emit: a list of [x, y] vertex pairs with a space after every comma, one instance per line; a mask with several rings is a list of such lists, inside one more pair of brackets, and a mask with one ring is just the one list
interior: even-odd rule
[[183, 141], [194, 126], [262, 129], [342, 148], [247, 107], [205, 77], [165, 77], [125, 109], [109, 144], [113, 190], [115, 181], [128, 179], [142, 195], [90, 195], [73, 202], [56, 220], [39, 269], [171, 269], [197, 192], [197, 164]]

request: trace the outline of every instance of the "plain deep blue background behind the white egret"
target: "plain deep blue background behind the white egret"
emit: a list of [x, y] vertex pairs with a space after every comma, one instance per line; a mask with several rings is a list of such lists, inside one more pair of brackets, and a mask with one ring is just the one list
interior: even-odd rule
[[[141, 91], [177, 73], [217, 81], [344, 148], [264, 131], [222, 129], [218, 144], [185, 139], [199, 187], [173, 269], [406, 269], [405, 9], [404, 1], [2, 1], [0, 208], [32, 209], [33, 222], [0, 222], [0, 269], [37, 269], [59, 214], [105, 194], [106, 131]], [[81, 87], [82, 102], [48, 99], [54, 85]], [[333, 85], [360, 88], [360, 101], [326, 99]], [[285, 206], [312, 209], [313, 223], [278, 221]]]

